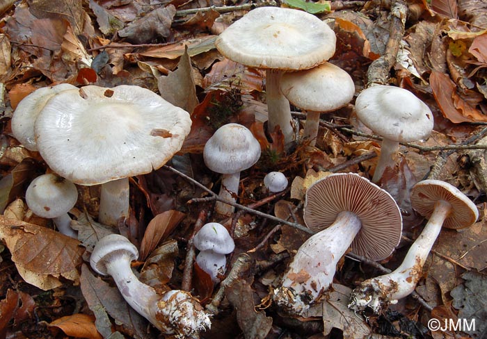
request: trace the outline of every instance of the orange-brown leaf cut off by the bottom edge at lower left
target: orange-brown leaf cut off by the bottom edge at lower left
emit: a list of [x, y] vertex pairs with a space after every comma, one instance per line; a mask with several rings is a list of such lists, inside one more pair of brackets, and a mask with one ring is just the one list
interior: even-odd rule
[[102, 335], [98, 333], [95, 326], [95, 317], [93, 315], [86, 315], [77, 313], [74, 315], [67, 315], [54, 320], [48, 326], [57, 327], [63, 330], [67, 336], [74, 338], [87, 339], [102, 339]]

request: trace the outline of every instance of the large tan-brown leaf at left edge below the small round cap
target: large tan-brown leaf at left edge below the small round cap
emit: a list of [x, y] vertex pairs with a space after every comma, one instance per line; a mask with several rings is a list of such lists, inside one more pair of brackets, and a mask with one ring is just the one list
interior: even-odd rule
[[79, 281], [77, 267], [84, 249], [79, 241], [42, 226], [0, 215], [0, 238], [6, 243], [19, 274], [42, 290]]

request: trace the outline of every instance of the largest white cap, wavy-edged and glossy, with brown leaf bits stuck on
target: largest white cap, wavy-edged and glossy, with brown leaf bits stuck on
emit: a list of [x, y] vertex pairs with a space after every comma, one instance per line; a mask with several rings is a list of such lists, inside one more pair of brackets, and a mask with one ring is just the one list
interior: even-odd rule
[[182, 147], [189, 113], [138, 86], [60, 92], [35, 122], [39, 152], [55, 172], [82, 185], [151, 172]]

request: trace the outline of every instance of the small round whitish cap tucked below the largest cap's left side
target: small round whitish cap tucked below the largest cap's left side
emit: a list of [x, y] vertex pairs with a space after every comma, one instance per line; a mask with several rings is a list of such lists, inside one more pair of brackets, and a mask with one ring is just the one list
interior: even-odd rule
[[26, 190], [27, 206], [40, 217], [55, 218], [67, 213], [78, 200], [74, 183], [56, 174], [42, 174]]

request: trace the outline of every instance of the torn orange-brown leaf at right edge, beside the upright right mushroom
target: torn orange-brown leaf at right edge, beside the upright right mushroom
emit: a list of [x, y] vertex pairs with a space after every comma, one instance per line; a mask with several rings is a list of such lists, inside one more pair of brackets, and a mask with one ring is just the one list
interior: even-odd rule
[[470, 106], [456, 92], [452, 79], [440, 72], [433, 71], [429, 77], [433, 95], [444, 117], [455, 124], [461, 122], [487, 122], [487, 116]]

